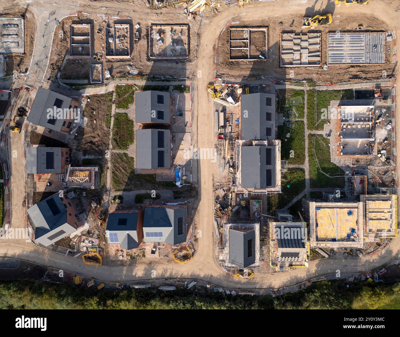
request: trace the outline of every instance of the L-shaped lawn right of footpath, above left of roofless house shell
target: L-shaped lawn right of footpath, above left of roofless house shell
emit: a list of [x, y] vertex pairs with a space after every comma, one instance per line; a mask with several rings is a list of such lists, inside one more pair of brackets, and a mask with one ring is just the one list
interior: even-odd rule
[[[315, 105], [315, 98], [317, 104]], [[322, 109], [328, 112], [330, 118], [330, 101], [354, 99], [353, 89], [345, 90], [308, 90], [307, 91], [307, 128], [308, 130], [323, 130], [326, 119], [321, 119]], [[317, 115], [317, 118], [315, 116]], [[317, 123], [317, 124], [316, 124]]]

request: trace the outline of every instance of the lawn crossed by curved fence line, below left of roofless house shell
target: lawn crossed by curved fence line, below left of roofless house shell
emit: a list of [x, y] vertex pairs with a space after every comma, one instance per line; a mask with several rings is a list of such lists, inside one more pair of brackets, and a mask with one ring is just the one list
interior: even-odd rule
[[[312, 141], [315, 137], [315, 153], [317, 156], [320, 168], [326, 174], [318, 170], [317, 163], [314, 160], [312, 151]], [[344, 171], [330, 161], [329, 139], [321, 135], [308, 136], [308, 165], [310, 168], [310, 187], [344, 187]], [[334, 177], [341, 175], [341, 177]]]

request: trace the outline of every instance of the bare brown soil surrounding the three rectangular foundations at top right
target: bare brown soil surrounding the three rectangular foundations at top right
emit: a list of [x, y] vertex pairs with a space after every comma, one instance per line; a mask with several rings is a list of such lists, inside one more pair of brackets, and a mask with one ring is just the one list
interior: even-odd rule
[[[295, 78], [301, 80], [313, 80], [331, 83], [333, 81], [362, 81], [365, 79], [378, 79], [382, 78], [382, 71], [386, 71], [387, 76], [392, 75], [395, 65], [392, 64], [394, 41], [386, 41], [386, 64], [384, 65], [342, 65], [330, 66], [328, 70], [321, 71], [321, 67], [326, 63], [326, 45], [328, 32], [335, 32], [340, 30], [345, 32], [344, 28], [348, 31], [357, 31], [360, 23], [363, 23], [363, 30], [358, 32], [376, 32], [387, 31], [391, 32], [394, 28], [388, 26], [386, 22], [382, 22], [376, 17], [366, 14], [357, 13], [354, 15], [341, 15], [340, 17], [334, 16], [332, 24], [329, 26], [319, 27], [315, 30], [307, 30], [307, 32], [321, 32], [322, 34], [322, 57], [321, 67], [314, 67], [313, 69], [307, 67], [296, 68], [280, 68], [280, 34], [281, 32], [300, 32], [302, 31], [301, 17], [295, 17], [292, 25], [292, 18], [282, 20], [279, 18], [271, 18], [268, 22], [248, 20], [247, 22], [240, 21], [241, 27], [256, 27], [268, 26], [268, 60], [260, 61], [230, 61], [229, 60], [229, 29], [226, 28], [218, 39], [217, 48], [217, 65], [216, 75], [222, 78], [242, 79], [246, 77], [273, 77], [273, 78]], [[344, 25], [344, 23], [346, 23]], [[232, 26], [233, 27], [233, 26]], [[304, 31], [304, 30], [303, 30]], [[232, 32], [231, 32], [232, 33]], [[237, 33], [239, 34], [239, 33]], [[239, 34], [240, 35], [240, 34]], [[236, 36], [239, 38], [239, 35]], [[253, 37], [255, 45], [250, 45], [250, 53], [258, 58], [261, 51], [262, 35], [257, 34]], [[389, 51], [390, 49], [390, 51]], [[240, 50], [240, 49], [238, 49]], [[240, 53], [240, 52], [238, 52]], [[262, 53], [262, 51], [261, 51]], [[263, 54], [262, 54], [263, 55]], [[264, 56], [264, 55], [263, 55]], [[294, 71], [294, 74], [291, 73]], [[293, 77], [294, 75], [294, 77]]]

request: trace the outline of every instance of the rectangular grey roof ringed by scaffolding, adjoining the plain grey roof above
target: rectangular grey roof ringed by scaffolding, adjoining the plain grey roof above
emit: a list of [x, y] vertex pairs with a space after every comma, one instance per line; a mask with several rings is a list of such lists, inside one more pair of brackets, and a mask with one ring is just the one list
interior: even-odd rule
[[254, 189], [275, 186], [275, 158], [276, 148], [274, 146], [242, 146], [240, 149], [240, 185], [244, 188]]

